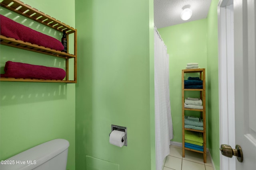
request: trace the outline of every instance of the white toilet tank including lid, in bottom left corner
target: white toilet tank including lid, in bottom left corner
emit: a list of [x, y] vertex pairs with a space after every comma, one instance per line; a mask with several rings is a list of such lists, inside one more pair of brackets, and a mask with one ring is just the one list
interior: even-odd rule
[[0, 170], [66, 170], [69, 142], [54, 139], [16, 154], [0, 164]]

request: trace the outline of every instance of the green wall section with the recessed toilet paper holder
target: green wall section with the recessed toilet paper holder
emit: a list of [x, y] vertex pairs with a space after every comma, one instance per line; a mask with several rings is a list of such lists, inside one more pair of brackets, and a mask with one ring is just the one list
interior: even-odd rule
[[[117, 164], [120, 170], [151, 169], [152, 4], [76, 0], [79, 170], [97, 169], [93, 162]], [[127, 147], [109, 143], [111, 124], [127, 127]]]

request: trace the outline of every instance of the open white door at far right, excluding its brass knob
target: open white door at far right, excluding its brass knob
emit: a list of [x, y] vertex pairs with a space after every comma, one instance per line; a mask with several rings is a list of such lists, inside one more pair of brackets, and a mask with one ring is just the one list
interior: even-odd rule
[[256, 170], [255, 10], [255, 0], [234, 0], [235, 130], [244, 157], [236, 170]]

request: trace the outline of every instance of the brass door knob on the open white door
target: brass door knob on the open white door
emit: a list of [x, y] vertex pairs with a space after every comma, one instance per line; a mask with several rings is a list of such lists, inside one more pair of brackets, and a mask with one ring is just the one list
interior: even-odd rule
[[236, 145], [236, 149], [232, 149], [230, 145], [220, 145], [221, 154], [232, 158], [232, 156], [236, 156], [239, 162], [243, 162], [243, 152], [242, 148], [239, 145]]

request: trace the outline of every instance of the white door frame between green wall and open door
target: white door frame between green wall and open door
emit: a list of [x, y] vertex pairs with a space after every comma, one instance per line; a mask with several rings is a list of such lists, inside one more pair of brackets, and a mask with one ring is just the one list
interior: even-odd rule
[[[220, 145], [235, 148], [233, 0], [218, 4]], [[220, 153], [220, 170], [236, 170], [236, 159]]]

